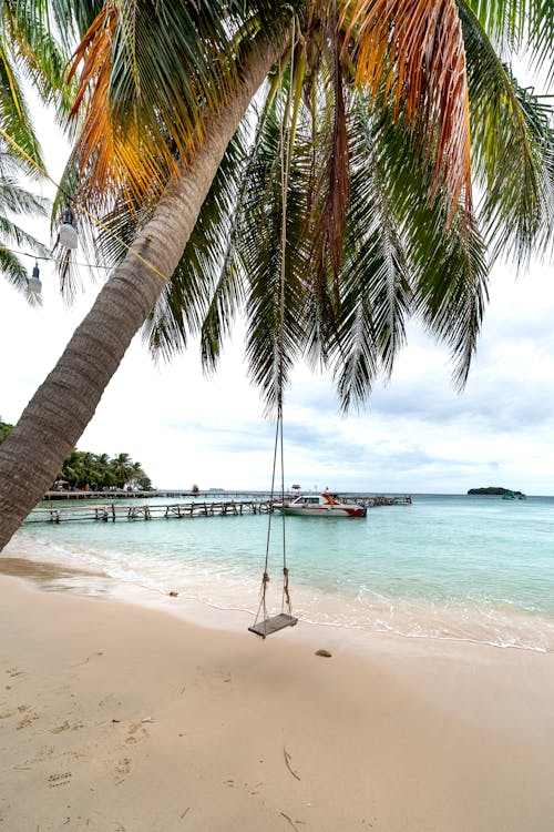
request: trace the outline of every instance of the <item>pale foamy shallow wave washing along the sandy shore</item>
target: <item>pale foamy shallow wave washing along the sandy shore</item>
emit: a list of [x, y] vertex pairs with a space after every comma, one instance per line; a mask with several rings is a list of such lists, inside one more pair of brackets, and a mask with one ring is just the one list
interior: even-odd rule
[[[107, 537], [109, 541], [114, 540]], [[244, 566], [219, 547], [212, 559], [196, 550], [188, 559], [152, 554], [127, 538], [125, 547], [86, 547], [83, 542], [20, 531], [9, 545], [31, 560], [47, 560], [65, 566], [79, 565], [91, 571], [102, 571], [113, 579], [113, 590], [102, 584], [103, 596], [117, 596], [117, 585], [136, 588], [148, 596], [165, 596], [171, 591], [185, 601], [222, 612], [253, 616], [259, 599], [258, 562], [250, 558]], [[207, 548], [207, 547], [206, 547]], [[8, 549], [6, 550], [8, 554]], [[13, 554], [10, 551], [10, 554]], [[248, 552], [242, 554], [246, 561]], [[257, 561], [257, 558], [256, 558]], [[334, 572], [335, 577], [335, 572]], [[270, 585], [271, 602], [280, 603], [280, 590], [275, 580]], [[83, 586], [82, 577], [80, 586]], [[554, 619], [533, 603], [517, 605], [502, 597], [492, 602], [486, 598], [466, 598], [464, 603], [413, 600], [398, 595], [370, 589], [368, 584], [336, 579], [334, 588], [314, 587], [301, 579], [291, 587], [295, 615], [307, 625], [383, 633], [406, 639], [468, 642], [501, 649], [554, 651]], [[238, 599], [238, 602], [237, 602]], [[242, 602], [244, 600], [244, 603]], [[177, 605], [178, 606], [178, 605]]]

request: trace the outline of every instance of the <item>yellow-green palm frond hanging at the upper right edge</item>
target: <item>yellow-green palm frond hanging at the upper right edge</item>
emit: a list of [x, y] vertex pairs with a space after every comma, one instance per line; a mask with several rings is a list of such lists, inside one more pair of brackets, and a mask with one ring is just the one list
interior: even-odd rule
[[468, 54], [473, 168], [483, 193], [480, 217], [493, 255], [517, 263], [552, 234], [552, 108], [522, 89], [496, 57], [475, 16], [460, 9]]

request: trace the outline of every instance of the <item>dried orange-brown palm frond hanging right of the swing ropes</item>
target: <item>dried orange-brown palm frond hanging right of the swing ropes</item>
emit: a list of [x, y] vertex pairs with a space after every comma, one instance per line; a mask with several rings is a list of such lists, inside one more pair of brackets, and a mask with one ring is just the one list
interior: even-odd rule
[[347, 0], [342, 20], [356, 82], [375, 98], [384, 85], [396, 118], [420, 140], [435, 191], [448, 189], [452, 210], [461, 196], [471, 210], [465, 53], [455, 0]]

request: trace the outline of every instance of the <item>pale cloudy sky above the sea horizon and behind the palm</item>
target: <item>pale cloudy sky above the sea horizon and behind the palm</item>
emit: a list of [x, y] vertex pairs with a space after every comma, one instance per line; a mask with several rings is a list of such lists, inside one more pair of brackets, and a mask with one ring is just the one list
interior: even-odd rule
[[[55, 177], [60, 142], [44, 120], [42, 130]], [[34, 231], [48, 242], [45, 227]], [[33, 262], [25, 262], [31, 270]], [[17, 422], [100, 288], [91, 283], [68, 308], [51, 266], [41, 263], [40, 270], [39, 310], [0, 281], [0, 419], [9, 423]], [[417, 328], [391, 382], [376, 388], [363, 414], [341, 417], [331, 379], [298, 367], [285, 400], [286, 486], [461, 494], [499, 485], [553, 495], [553, 277], [548, 263], [533, 263], [520, 276], [495, 268], [461, 395], [451, 385], [448, 353]], [[161, 488], [267, 488], [274, 426], [248, 385], [243, 353], [237, 332], [216, 376], [205, 378], [197, 345], [171, 365], [155, 365], [137, 336], [78, 447], [126, 451]]]

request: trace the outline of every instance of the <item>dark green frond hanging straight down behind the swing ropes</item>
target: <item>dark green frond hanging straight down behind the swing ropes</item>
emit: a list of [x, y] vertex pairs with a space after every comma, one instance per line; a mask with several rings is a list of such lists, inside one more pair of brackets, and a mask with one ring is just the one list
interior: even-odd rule
[[[271, 413], [298, 359], [304, 334], [308, 245], [306, 241], [306, 156], [298, 152], [288, 160], [286, 193], [286, 245], [283, 248], [283, 142], [288, 131], [281, 120], [290, 78], [285, 73], [277, 94], [264, 110], [264, 118], [247, 163], [245, 187], [233, 224], [233, 251], [226, 261], [224, 280], [240, 280], [246, 295], [246, 357], [249, 375]], [[284, 260], [283, 260], [284, 258]], [[285, 310], [281, 322], [281, 266], [285, 268]], [[236, 273], [236, 278], [235, 278]], [[283, 325], [281, 325], [283, 323]]]

